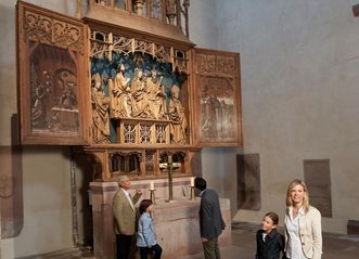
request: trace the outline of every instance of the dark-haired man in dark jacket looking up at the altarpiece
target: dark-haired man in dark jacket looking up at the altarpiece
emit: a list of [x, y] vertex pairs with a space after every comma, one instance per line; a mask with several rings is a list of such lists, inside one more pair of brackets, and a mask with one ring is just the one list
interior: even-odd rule
[[225, 230], [218, 195], [207, 189], [203, 178], [195, 178], [194, 186], [201, 191], [200, 231], [205, 259], [220, 259], [218, 236]]

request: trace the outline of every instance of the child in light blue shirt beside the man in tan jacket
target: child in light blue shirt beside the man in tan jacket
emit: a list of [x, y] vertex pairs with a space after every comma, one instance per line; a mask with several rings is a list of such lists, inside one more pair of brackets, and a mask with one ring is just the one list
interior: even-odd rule
[[149, 251], [154, 251], [154, 259], [159, 259], [162, 247], [156, 242], [151, 212], [153, 204], [151, 199], [143, 199], [140, 204], [139, 231], [137, 246], [140, 247], [141, 259], [148, 259]]

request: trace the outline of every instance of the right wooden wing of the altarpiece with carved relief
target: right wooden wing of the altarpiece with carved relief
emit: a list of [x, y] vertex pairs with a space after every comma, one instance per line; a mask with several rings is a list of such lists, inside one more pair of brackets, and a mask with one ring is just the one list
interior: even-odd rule
[[196, 143], [242, 145], [239, 53], [194, 49], [192, 60]]

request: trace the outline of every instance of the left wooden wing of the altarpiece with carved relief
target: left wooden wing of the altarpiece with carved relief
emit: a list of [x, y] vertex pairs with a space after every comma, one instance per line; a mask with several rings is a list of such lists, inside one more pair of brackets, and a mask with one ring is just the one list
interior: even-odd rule
[[22, 143], [86, 144], [87, 27], [18, 2]]

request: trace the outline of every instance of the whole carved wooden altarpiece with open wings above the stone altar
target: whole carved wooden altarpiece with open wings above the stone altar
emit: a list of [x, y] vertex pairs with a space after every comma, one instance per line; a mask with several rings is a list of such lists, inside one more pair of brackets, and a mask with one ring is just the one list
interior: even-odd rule
[[201, 147], [242, 145], [239, 54], [194, 48], [188, 0], [87, 5], [17, 3], [23, 144], [79, 146], [94, 180], [165, 177], [169, 156], [191, 176]]

